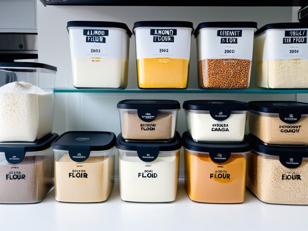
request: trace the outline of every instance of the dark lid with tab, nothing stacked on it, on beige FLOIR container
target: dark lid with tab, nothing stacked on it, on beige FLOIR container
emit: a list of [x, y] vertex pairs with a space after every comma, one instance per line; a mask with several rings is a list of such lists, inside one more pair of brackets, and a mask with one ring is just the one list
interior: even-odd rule
[[51, 144], [54, 150], [68, 151], [72, 160], [87, 160], [91, 151], [105, 151], [115, 146], [116, 136], [113, 132], [65, 132]]

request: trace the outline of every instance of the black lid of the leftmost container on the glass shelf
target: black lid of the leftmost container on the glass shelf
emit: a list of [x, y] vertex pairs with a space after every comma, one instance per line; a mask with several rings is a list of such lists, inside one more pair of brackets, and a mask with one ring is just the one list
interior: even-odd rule
[[129, 37], [132, 37], [132, 31], [123, 22], [101, 22], [101, 21], [69, 21], [67, 22], [67, 29], [71, 26], [83, 26], [83, 27], [112, 27], [121, 28], [126, 30]]

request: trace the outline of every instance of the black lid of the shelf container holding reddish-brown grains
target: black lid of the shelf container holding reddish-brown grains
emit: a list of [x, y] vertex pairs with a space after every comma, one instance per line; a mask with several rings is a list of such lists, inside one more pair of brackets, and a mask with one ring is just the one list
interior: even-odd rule
[[198, 24], [195, 32], [197, 37], [199, 30], [202, 28], [255, 28], [257, 29], [257, 22], [201, 22]]

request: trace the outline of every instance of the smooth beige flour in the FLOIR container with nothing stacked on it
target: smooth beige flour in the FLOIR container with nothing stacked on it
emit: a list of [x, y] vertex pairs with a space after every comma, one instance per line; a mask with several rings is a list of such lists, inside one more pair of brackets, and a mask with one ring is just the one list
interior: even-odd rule
[[[65, 153], [55, 161], [55, 199], [62, 202], [106, 201], [114, 184], [114, 166], [115, 156], [89, 156], [83, 162], [75, 162]], [[78, 173], [75, 171], [83, 176], [86, 173], [87, 178], [72, 177]]]

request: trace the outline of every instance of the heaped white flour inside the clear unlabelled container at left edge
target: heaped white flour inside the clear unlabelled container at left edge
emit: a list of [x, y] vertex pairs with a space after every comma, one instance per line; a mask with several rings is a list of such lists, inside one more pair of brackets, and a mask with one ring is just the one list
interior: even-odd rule
[[52, 132], [54, 98], [30, 83], [0, 87], [0, 142], [33, 142]]

